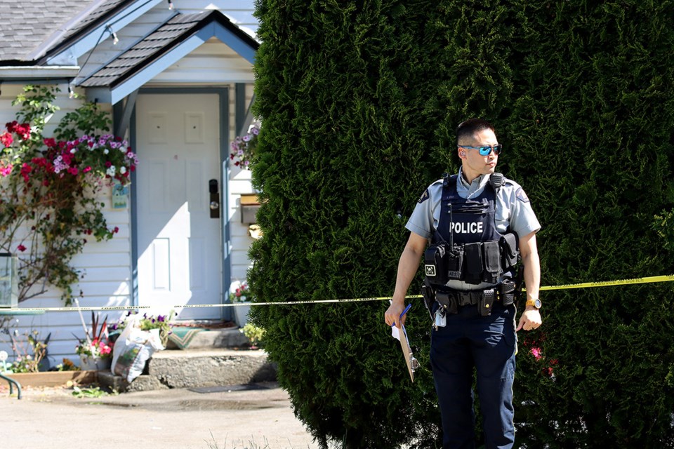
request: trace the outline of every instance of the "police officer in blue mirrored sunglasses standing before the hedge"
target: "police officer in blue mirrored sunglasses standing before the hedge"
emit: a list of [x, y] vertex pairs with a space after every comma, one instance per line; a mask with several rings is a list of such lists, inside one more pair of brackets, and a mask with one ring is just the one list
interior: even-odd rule
[[[425, 286], [432, 295], [435, 320], [430, 361], [443, 448], [475, 447], [474, 368], [485, 447], [512, 448], [516, 332], [541, 326], [536, 249], [541, 226], [522, 187], [494, 174], [502, 149], [494, 126], [482, 119], [464, 121], [456, 140], [458, 175], [430, 185], [407, 222], [411, 234], [400, 256], [385, 321], [390, 326], [404, 324], [405, 316], [400, 318], [404, 297], [424, 257]], [[515, 328], [512, 286], [517, 250], [527, 302]]]

